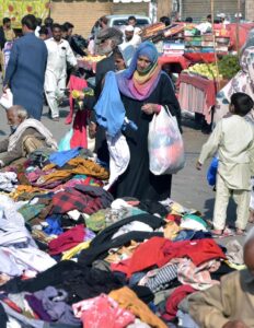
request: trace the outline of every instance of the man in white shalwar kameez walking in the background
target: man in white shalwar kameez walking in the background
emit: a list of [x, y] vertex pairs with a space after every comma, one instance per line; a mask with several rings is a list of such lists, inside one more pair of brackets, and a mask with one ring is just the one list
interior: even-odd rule
[[61, 26], [53, 25], [53, 37], [45, 42], [48, 50], [45, 73], [45, 94], [53, 120], [59, 120], [59, 99], [64, 96], [67, 79], [67, 62], [77, 66], [77, 59], [69, 43], [61, 38]]

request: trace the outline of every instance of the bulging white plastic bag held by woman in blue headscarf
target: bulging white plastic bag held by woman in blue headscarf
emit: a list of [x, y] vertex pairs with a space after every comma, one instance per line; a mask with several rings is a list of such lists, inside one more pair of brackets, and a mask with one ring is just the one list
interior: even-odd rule
[[149, 168], [154, 175], [174, 174], [185, 164], [184, 143], [176, 118], [161, 108], [148, 133]]

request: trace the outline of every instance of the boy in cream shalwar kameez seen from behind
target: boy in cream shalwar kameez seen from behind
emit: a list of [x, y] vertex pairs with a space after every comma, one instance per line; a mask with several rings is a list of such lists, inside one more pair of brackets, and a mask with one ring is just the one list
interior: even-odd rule
[[231, 96], [230, 117], [222, 118], [204, 144], [197, 169], [218, 152], [213, 236], [227, 236], [227, 208], [232, 196], [238, 204], [236, 234], [244, 234], [249, 220], [251, 176], [254, 171], [254, 125], [246, 119], [253, 109], [252, 98], [244, 93]]

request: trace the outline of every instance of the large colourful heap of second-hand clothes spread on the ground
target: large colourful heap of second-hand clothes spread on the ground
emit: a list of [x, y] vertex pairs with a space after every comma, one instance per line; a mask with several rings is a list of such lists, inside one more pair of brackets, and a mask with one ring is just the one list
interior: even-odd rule
[[81, 149], [0, 173], [0, 327], [197, 327], [188, 295], [243, 267], [199, 213], [114, 200]]

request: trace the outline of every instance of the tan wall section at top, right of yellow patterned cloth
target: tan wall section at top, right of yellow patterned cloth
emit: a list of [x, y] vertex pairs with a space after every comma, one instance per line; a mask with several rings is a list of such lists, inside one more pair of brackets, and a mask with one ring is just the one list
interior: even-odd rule
[[71, 22], [74, 25], [74, 33], [88, 37], [95, 21], [112, 14], [112, 2], [89, 1], [89, 0], [54, 0], [51, 1], [50, 15], [56, 23]]

